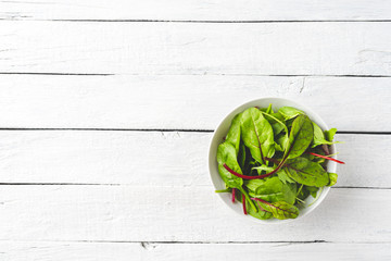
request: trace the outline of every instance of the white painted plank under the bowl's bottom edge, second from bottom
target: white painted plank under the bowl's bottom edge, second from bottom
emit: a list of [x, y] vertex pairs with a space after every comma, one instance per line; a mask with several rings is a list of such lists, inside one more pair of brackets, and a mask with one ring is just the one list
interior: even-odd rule
[[212, 186], [1, 186], [0, 198], [0, 240], [383, 243], [391, 235], [390, 189], [333, 188], [313, 213], [278, 228], [235, 214]]

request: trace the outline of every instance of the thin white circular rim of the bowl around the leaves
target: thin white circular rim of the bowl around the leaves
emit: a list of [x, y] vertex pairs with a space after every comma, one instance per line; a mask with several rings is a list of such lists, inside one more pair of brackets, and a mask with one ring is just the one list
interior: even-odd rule
[[[329, 129], [329, 127], [327, 126], [326, 122], [314, 111], [312, 110], [311, 108], [308, 108], [307, 105], [304, 105], [302, 103], [299, 103], [298, 101], [294, 101], [294, 100], [291, 100], [291, 99], [287, 99], [287, 98], [280, 98], [280, 97], [263, 97], [263, 98], [258, 98], [258, 99], [253, 99], [253, 100], [250, 100], [250, 101], [247, 101], [244, 103], [241, 103], [240, 105], [237, 105], [235, 109], [232, 109], [228, 114], [226, 114], [223, 120], [218, 123], [217, 127], [214, 129], [213, 132], [213, 135], [212, 135], [212, 138], [210, 140], [210, 145], [209, 145], [209, 153], [207, 153], [207, 166], [209, 166], [209, 173], [210, 173], [210, 179], [214, 186], [215, 189], [220, 189], [220, 188], [217, 188], [216, 187], [216, 184], [215, 182], [213, 181], [213, 172], [216, 172], [218, 177], [219, 177], [219, 174], [218, 174], [218, 170], [216, 171], [216, 169], [213, 167], [213, 164], [212, 162], [215, 161], [216, 162], [216, 153], [214, 153], [213, 151], [213, 146], [214, 146], [214, 142], [215, 142], [215, 139], [216, 139], [216, 135], [217, 135], [217, 132], [223, 127], [223, 125], [230, 119], [229, 121], [229, 125], [230, 125], [230, 122], [231, 122], [231, 119], [237, 114], [237, 113], [240, 113], [242, 111], [244, 111], [245, 109], [248, 108], [251, 108], [252, 105], [250, 104], [253, 104], [253, 103], [257, 103], [257, 102], [266, 102], [268, 100], [279, 100], [281, 101], [282, 103], [285, 102], [288, 102], [288, 103], [293, 103], [293, 104], [297, 104], [302, 111], [304, 111], [306, 114], [312, 114], [313, 116], [317, 117], [316, 121], [314, 121], [316, 124], [318, 125], [321, 125], [323, 129]], [[268, 102], [268, 103], [274, 103], [274, 102]], [[283, 107], [283, 105], [281, 105]], [[289, 107], [294, 107], [294, 105], [289, 105]], [[280, 108], [280, 107], [278, 107]], [[311, 119], [313, 121], [313, 119]], [[219, 145], [220, 142], [217, 142], [217, 146]], [[330, 149], [332, 151], [332, 153], [337, 153], [337, 148], [336, 148], [336, 145], [331, 145], [330, 146]], [[213, 153], [213, 154], [212, 154]], [[337, 159], [337, 154], [335, 154], [332, 157], [333, 159]], [[214, 169], [214, 170], [213, 170]], [[328, 172], [337, 172], [337, 163], [336, 162], [328, 162], [327, 163], [327, 169], [328, 169]], [[330, 170], [332, 169], [332, 170]], [[220, 177], [219, 177], [220, 178]], [[269, 220], [260, 220], [260, 219], [256, 219], [254, 216], [251, 216], [251, 215], [244, 215], [243, 213], [239, 213], [237, 210], [235, 210], [235, 208], [232, 207], [232, 203], [231, 204], [228, 204], [228, 202], [224, 199], [224, 194], [218, 194], [218, 197], [220, 198], [220, 200], [224, 202], [224, 204], [226, 204], [232, 212], [235, 212], [237, 215], [240, 215], [242, 219], [247, 219], [248, 221], [251, 220], [253, 222], [256, 222], [256, 223], [262, 223], [262, 224], [286, 224], [286, 223], [290, 223], [290, 222], [293, 222], [293, 221], [298, 221], [298, 220], [301, 220], [303, 219], [304, 216], [306, 216], [307, 214], [310, 214], [311, 212], [313, 212], [323, 201], [324, 199], [327, 197], [328, 192], [330, 191], [330, 187], [327, 187], [327, 186], [324, 186], [321, 189], [318, 190], [317, 192], [317, 196], [316, 196], [316, 200], [313, 199], [314, 202], [312, 202], [310, 206], [306, 206], [304, 209], [307, 209], [306, 211], [300, 211], [299, 213], [299, 216], [297, 219], [287, 219], [287, 220], [277, 220], [277, 219], [269, 219]], [[308, 200], [310, 196], [305, 199]], [[249, 219], [251, 217], [251, 219]]]

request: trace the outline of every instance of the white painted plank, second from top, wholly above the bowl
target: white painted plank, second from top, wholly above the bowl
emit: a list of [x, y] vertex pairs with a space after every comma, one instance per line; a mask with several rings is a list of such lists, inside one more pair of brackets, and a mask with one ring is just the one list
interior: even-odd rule
[[391, 75], [390, 23], [2, 21], [0, 72]]

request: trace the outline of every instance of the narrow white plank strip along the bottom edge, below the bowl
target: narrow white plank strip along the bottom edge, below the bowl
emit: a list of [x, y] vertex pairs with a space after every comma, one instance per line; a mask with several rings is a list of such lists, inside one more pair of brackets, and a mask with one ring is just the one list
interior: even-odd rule
[[[142, 247], [143, 246], [143, 247]], [[390, 244], [157, 244], [1, 241], [4, 261], [100, 260], [377, 260], [391, 259]]]

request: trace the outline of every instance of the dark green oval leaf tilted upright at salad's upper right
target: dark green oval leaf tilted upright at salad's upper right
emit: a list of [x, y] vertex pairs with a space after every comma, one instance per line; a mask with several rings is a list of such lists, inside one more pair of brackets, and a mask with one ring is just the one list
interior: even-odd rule
[[293, 159], [308, 148], [314, 137], [313, 124], [306, 115], [299, 115], [292, 123], [289, 135], [289, 154], [288, 159]]

